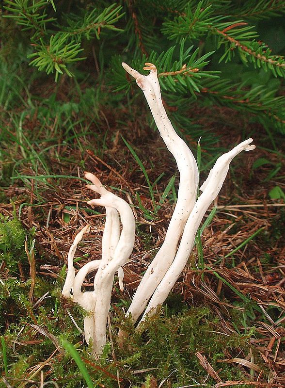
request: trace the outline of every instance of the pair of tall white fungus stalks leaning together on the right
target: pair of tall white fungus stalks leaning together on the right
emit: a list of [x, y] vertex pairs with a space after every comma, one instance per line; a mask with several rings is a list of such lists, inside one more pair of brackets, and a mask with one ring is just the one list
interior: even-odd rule
[[[200, 190], [203, 191], [203, 194], [201, 194], [196, 202], [198, 188], [197, 163], [190, 149], [177, 135], [167, 117], [162, 104], [155, 65], [150, 63], [146, 63], [145, 65], [146, 67], [143, 69], [150, 70], [147, 76], [140, 74], [127, 64], [122, 63], [124, 69], [135, 78], [137, 84], [143, 91], [159, 133], [175, 158], [180, 173], [180, 180], [177, 203], [166, 232], [165, 240], [143, 276], [131, 305], [127, 310], [127, 315], [131, 315], [134, 323], [142, 314], [150, 298], [149, 305], [144, 311], [142, 320], [144, 320], [146, 314], [150, 311], [155, 311], [156, 307], [164, 302], [189, 258], [197, 229], [206, 210], [222, 188], [230, 162], [242, 150], [255, 148], [255, 146], [249, 146], [253, 140], [248, 139], [233, 148], [230, 152], [222, 155], [201, 186]], [[181, 235], [181, 242], [177, 250], [177, 244]], [[120, 334], [122, 336], [124, 335], [123, 333]]]

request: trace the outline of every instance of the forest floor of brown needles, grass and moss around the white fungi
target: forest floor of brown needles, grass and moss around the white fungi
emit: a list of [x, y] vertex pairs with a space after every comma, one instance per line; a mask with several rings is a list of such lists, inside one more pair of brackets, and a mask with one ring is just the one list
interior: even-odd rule
[[[56, 103], [64, 103], [64, 89]], [[36, 113], [21, 120], [21, 131], [11, 117], [6, 119], [0, 187], [0, 384], [83, 387], [77, 365], [61, 346], [64, 338], [76, 345], [94, 387], [285, 387], [282, 136], [272, 145], [260, 125], [245, 126], [226, 108], [205, 108], [205, 121], [195, 123], [211, 128], [207, 132], [216, 139], [205, 149], [202, 133], [200, 182], [221, 150], [250, 136], [256, 149], [232, 162], [206, 214], [216, 207], [201, 238], [203, 250], [193, 249], [165, 306], [145, 323], [143, 332], [130, 333], [128, 348], [116, 345], [123, 312], [163, 242], [179, 181], [172, 156], [145, 118], [147, 107], [138, 106], [137, 111], [130, 114], [120, 106], [114, 112], [103, 106], [98, 123], [82, 122], [72, 111], [71, 129], [70, 122], [57, 126], [55, 118], [46, 123], [48, 134]], [[195, 154], [198, 138], [181, 131]], [[60, 297], [67, 253], [82, 226], [89, 224], [91, 231], [79, 245], [76, 268], [101, 257], [105, 214], [86, 204], [92, 193], [85, 188], [84, 171], [94, 173], [132, 206], [137, 225], [135, 247], [124, 268], [125, 291], [117, 282], [113, 287], [108, 346], [101, 360], [86, 350], [81, 311]], [[12, 224], [15, 219], [21, 226]], [[13, 250], [13, 236], [5, 237], [11, 238], [11, 246], [4, 247], [3, 230], [8, 235], [22, 226], [24, 237], [18, 243], [24, 256], [11, 259], [20, 251]], [[83, 288], [90, 290], [91, 285], [92, 276]]]

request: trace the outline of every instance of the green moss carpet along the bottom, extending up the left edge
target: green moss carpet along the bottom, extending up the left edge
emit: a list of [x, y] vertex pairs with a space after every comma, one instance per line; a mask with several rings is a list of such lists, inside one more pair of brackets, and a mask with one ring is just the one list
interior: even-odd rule
[[[133, 387], [144, 384], [147, 388], [151, 387], [153, 375], [158, 384], [168, 376], [167, 386], [171, 388], [191, 384], [212, 387], [216, 381], [201, 366], [197, 352], [206, 357], [222, 380], [247, 380], [246, 371], [243, 372], [240, 366], [221, 360], [237, 357], [241, 351], [249, 354], [249, 338], [253, 335], [250, 325], [254, 318], [250, 314], [254, 313], [253, 309], [247, 306], [247, 314], [232, 314], [237, 333], [227, 335], [221, 329], [222, 322], [209, 309], [189, 309], [182, 298], [174, 294], [169, 296], [165, 307], [149, 317], [139, 330], [135, 330], [131, 320], [124, 317], [124, 303], [118, 302], [117, 306], [113, 306], [111, 314], [116, 317], [112, 319], [111, 328], [113, 347], [107, 343], [103, 356], [96, 360], [74, 324], [76, 322], [83, 328], [82, 308], [61, 297], [65, 268], [56, 282], [37, 278], [34, 297], [40, 298], [47, 292], [48, 296], [36, 306], [29, 302], [28, 272], [26, 281], [21, 281], [17, 274], [18, 261], [23, 265], [28, 261], [24, 248], [26, 237], [31, 241], [31, 234], [23, 229], [16, 218], [1, 218], [0, 249], [1, 257], [6, 260], [5, 278], [0, 290], [1, 332], [5, 339], [11, 377], [27, 378], [32, 366], [47, 360], [60, 347], [45, 369], [48, 380], [57, 382], [60, 388], [83, 387], [84, 379], [75, 361], [61, 348], [62, 340], [67, 339], [77, 348], [94, 386], [117, 388], [118, 375], [122, 388], [128, 388], [130, 384]], [[33, 325], [39, 326], [47, 335]], [[238, 334], [238, 327], [242, 326], [246, 329], [246, 335]], [[124, 349], [120, 349], [114, 340], [119, 328], [129, 333]], [[254, 362], [262, 365], [258, 355], [254, 357]], [[3, 368], [3, 364], [0, 355], [0, 368]], [[9, 383], [13, 386], [17, 381], [11, 380]]]

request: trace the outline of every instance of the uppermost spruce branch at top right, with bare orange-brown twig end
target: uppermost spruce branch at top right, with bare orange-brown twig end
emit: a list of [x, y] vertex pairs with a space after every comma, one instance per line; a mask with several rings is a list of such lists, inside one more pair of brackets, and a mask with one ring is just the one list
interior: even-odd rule
[[193, 12], [188, 6], [182, 14], [175, 16], [174, 20], [163, 23], [162, 32], [170, 39], [198, 39], [208, 32], [217, 36], [218, 48], [224, 45], [225, 51], [220, 62], [232, 60], [235, 50], [238, 50], [240, 59], [247, 65], [252, 63], [255, 68], [270, 70], [275, 77], [285, 77], [285, 58], [272, 55], [268, 46], [256, 41], [257, 32], [244, 20], [225, 21], [227, 16], [213, 16], [213, 9], [209, 5], [203, 8], [199, 2]]

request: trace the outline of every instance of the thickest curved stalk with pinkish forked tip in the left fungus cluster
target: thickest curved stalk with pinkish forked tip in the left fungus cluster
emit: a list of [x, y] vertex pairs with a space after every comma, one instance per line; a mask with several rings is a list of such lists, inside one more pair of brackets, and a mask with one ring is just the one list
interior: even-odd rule
[[[110, 309], [111, 290], [114, 280], [114, 274], [123, 266], [132, 252], [135, 242], [135, 220], [133, 212], [127, 202], [106, 190], [98, 178], [93, 174], [85, 173], [85, 178], [91, 180], [93, 185], [87, 185], [87, 188], [101, 195], [100, 199], [92, 199], [89, 205], [105, 206], [115, 209], [121, 216], [122, 232], [117, 241], [117, 221], [115, 213], [112, 211], [112, 227], [114, 227], [115, 237], [112, 236], [113, 229], [110, 227], [106, 241], [111, 243], [111, 249], [104, 247], [104, 260], [101, 260], [94, 280], [94, 289], [96, 292], [96, 303], [94, 308], [95, 328], [93, 336], [93, 351], [100, 355], [102, 348], [106, 343], [106, 324]], [[105, 241], [105, 240], [104, 240]], [[104, 242], [105, 244], [105, 242]], [[109, 256], [108, 256], [109, 255]]]

